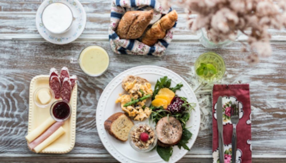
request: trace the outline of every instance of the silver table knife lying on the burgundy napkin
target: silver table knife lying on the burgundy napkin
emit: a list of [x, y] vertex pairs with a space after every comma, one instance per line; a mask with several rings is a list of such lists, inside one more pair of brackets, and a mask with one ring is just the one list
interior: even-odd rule
[[223, 151], [223, 104], [221, 96], [217, 99], [217, 130], [219, 131], [219, 162], [224, 163]]

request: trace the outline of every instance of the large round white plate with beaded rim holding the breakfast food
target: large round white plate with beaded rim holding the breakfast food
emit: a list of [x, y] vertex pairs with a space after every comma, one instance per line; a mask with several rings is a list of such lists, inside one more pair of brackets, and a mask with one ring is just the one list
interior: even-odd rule
[[[151, 83], [153, 90], [157, 79], [163, 76], [168, 76], [168, 78], [172, 79], [171, 87], [174, 87], [178, 83], [182, 83], [184, 85], [181, 91], [176, 91], [176, 94], [186, 97], [189, 102], [196, 103], [196, 107], [191, 112], [190, 119], [186, 124], [187, 127], [190, 127], [189, 130], [193, 134], [192, 138], [187, 144], [187, 146], [191, 148], [196, 140], [200, 128], [200, 109], [194, 92], [182, 77], [171, 70], [158, 66], [138, 66], [130, 68], [112, 79], [102, 92], [102, 95], [98, 101], [96, 110], [96, 127], [100, 140], [106, 150], [108, 150], [108, 152], [120, 162], [165, 162], [158, 155], [156, 150], [146, 153], [137, 152], [130, 146], [128, 141], [121, 142], [108, 134], [108, 132], [104, 129], [104, 121], [110, 117], [110, 115], [116, 112], [122, 112], [120, 104], [116, 104], [115, 100], [119, 97], [119, 93], [124, 91], [121, 87], [121, 82], [122, 79], [128, 75], [146, 78]], [[145, 120], [145, 122], [148, 123], [148, 119]], [[183, 148], [179, 149], [178, 146], [174, 146], [173, 154], [169, 162], [177, 162], [187, 152], [188, 150], [184, 150]]]

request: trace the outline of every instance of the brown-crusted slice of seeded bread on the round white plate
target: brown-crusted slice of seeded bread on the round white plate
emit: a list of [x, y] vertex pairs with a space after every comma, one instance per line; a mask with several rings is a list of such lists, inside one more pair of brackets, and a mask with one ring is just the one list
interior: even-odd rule
[[123, 142], [128, 140], [128, 134], [133, 125], [131, 119], [121, 112], [111, 115], [104, 122], [104, 128], [108, 133]]

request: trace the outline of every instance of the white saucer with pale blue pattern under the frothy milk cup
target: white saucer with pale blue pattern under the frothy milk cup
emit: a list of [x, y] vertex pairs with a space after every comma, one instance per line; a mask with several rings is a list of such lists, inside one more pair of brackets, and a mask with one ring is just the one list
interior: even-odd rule
[[[75, 18], [72, 22], [70, 29], [63, 34], [53, 34], [49, 32], [43, 25], [42, 22], [42, 13], [47, 5], [60, 2], [67, 5], [73, 13], [73, 17]], [[86, 12], [84, 11], [84, 7], [78, 0], [44, 0], [39, 6], [36, 13], [36, 26], [39, 34], [48, 42], [53, 44], [68, 44], [76, 40], [84, 31], [86, 26]]]

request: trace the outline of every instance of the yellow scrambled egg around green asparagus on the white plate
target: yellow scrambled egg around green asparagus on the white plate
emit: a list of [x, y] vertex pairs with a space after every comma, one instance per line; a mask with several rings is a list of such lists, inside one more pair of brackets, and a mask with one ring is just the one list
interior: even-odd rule
[[126, 112], [130, 117], [132, 117], [136, 121], [143, 121], [144, 119], [148, 118], [151, 115], [151, 109], [149, 107], [142, 108], [146, 100], [140, 101], [134, 105], [130, 105], [124, 107], [123, 105], [143, 97], [144, 95], [153, 94], [151, 89], [151, 84], [148, 82], [145, 83], [138, 83], [135, 79], [132, 82], [125, 82], [123, 83], [124, 90], [127, 91], [129, 94], [120, 95], [120, 97], [115, 101], [116, 103], [120, 102], [120, 106], [124, 112]]

